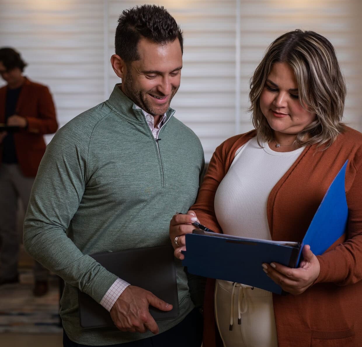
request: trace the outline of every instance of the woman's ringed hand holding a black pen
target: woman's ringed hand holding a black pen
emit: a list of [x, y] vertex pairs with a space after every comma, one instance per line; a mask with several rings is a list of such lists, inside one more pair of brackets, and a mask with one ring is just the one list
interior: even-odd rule
[[[194, 211], [188, 211], [186, 215], [178, 214], [172, 217], [170, 222], [170, 240], [175, 250], [173, 254], [176, 258], [181, 260], [185, 258], [181, 253], [181, 251], [186, 250], [185, 234], [192, 233], [195, 227], [191, 223], [198, 221]], [[175, 243], [176, 237], [178, 237], [177, 244]]]

